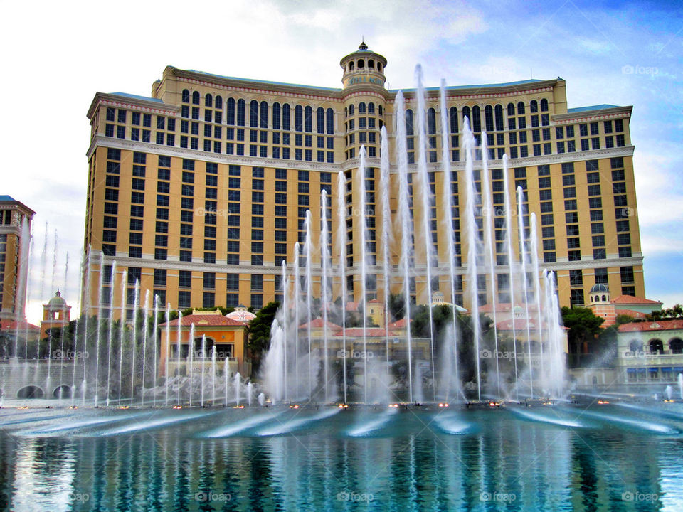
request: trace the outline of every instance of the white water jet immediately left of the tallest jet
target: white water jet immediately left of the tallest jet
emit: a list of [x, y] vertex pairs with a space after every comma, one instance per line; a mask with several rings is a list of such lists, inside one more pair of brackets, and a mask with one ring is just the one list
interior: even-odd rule
[[413, 340], [411, 335], [411, 255], [413, 240], [408, 203], [408, 149], [406, 148], [406, 109], [403, 92], [396, 94], [396, 152], [398, 161], [398, 219], [401, 232], [401, 267], [403, 269], [403, 306], [406, 310], [406, 348], [408, 354], [408, 401], [413, 402]]

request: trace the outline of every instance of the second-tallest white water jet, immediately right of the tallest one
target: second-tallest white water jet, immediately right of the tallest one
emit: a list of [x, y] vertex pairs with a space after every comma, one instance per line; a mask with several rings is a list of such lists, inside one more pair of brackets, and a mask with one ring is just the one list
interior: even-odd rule
[[[443, 218], [444, 231], [446, 233], [446, 242], [448, 244], [448, 271], [450, 276], [450, 298], [453, 304], [453, 318], [452, 318], [452, 336], [453, 336], [453, 363], [455, 366], [455, 393], [457, 395], [458, 388], [460, 388], [460, 374], [458, 368], [458, 353], [457, 353], [457, 319], [456, 319], [456, 300], [455, 300], [455, 235], [453, 235], [453, 199], [451, 190], [451, 176], [450, 176], [450, 155], [448, 148], [450, 148], [449, 140], [449, 124], [448, 124], [448, 108], [446, 107], [446, 82], [441, 80], [441, 166], [443, 169]], [[450, 370], [450, 368], [449, 368]], [[446, 400], [448, 400], [449, 388], [446, 388]]]

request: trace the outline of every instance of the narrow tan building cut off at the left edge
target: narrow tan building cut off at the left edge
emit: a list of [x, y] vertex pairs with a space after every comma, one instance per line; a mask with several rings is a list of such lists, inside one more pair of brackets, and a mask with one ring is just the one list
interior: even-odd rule
[[28, 247], [35, 213], [10, 196], [0, 196], [0, 319], [26, 318]]

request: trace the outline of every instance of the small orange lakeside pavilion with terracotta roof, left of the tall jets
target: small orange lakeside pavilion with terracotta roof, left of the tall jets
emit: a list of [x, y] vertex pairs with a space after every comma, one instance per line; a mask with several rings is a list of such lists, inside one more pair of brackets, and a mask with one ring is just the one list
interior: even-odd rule
[[[211, 366], [212, 353], [216, 353], [216, 366], [228, 371], [239, 371], [242, 375], [250, 375], [251, 361], [245, 357], [246, 329], [248, 321], [238, 321], [223, 316], [221, 311], [192, 311], [191, 315], [182, 319], [171, 320], [159, 325], [162, 334], [159, 351], [159, 375], [176, 375], [189, 373], [189, 364], [193, 368]], [[194, 331], [192, 330], [194, 326]], [[192, 344], [190, 335], [194, 334]], [[206, 342], [203, 342], [206, 336]], [[180, 341], [180, 347], [179, 342]], [[189, 347], [192, 354], [189, 354]], [[203, 350], [204, 349], [204, 350]], [[168, 354], [169, 368], [166, 369]]]

